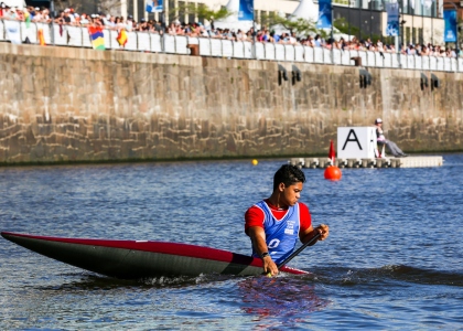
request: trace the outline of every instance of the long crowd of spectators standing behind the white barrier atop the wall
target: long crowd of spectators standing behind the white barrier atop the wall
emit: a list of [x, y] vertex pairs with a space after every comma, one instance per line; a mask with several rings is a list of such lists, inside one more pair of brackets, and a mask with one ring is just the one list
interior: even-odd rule
[[[74, 26], [104, 26], [110, 30], [127, 31], [144, 31], [151, 33], [168, 33], [171, 35], [187, 35], [187, 36], [204, 36], [215, 39], [227, 39], [233, 41], [254, 41], [257, 42], [271, 42], [280, 44], [306, 45], [312, 47], [325, 47], [336, 50], [355, 50], [355, 51], [372, 51], [381, 53], [397, 53], [394, 44], [384, 44], [380, 40], [372, 42], [370, 39], [358, 40], [353, 36], [351, 40], [341, 38], [340, 40], [324, 39], [320, 34], [308, 35], [304, 38], [297, 36], [295, 33], [276, 33], [266, 26], [255, 31], [252, 28], [248, 31], [233, 30], [233, 29], [218, 29], [214, 24], [204, 26], [198, 23], [181, 23], [179, 20], [171, 22], [164, 26], [161, 22], [155, 20], [146, 20], [142, 18], [139, 22], [133, 20], [132, 15], [114, 17], [104, 13], [77, 13], [73, 8], [66, 8], [58, 12], [56, 18], [52, 18], [47, 8], [26, 7], [24, 9], [9, 8], [1, 3], [0, 19], [24, 21], [29, 18], [31, 22], [45, 22], [57, 23], [63, 25]], [[456, 50], [443, 47], [439, 45], [428, 44], [409, 44], [400, 47], [400, 53], [408, 55], [433, 55], [442, 57], [457, 57]]]

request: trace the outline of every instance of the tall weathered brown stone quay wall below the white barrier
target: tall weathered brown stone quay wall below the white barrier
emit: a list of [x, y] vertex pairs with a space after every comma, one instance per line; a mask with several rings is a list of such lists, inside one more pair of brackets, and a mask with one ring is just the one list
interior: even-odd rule
[[281, 64], [0, 43], [0, 163], [324, 154], [376, 117], [407, 152], [463, 149], [462, 74]]

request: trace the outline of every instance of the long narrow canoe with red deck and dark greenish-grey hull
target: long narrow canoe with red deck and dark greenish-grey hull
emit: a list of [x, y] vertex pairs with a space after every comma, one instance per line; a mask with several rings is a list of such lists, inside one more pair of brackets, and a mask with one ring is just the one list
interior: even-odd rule
[[[20, 246], [65, 264], [108, 277], [138, 279], [159, 276], [262, 274], [260, 258], [204, 246], [150, 242], [36, 236], [2, 232]], [[290, 267], [281, 271], [309, 274]]]

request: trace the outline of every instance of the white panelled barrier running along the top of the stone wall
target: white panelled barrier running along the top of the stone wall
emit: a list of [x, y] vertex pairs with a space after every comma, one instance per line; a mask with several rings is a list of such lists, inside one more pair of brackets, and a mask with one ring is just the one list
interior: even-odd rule
[[[8, 25], [8, 26], [7, 26]], [[31, 44], [39, 44], [37, 31], [42, 29], [46, 44], [73, 47], [91, 47], [87, 28], [0, 20], [0, 41], [8, 41], [8, 29], [18, 29], [21, 41], [26, 38]], [[18, 32], [17, 32], [18, 33]], [[463, 58], [440, 56], [405, 55], [369, 51], [341, 51], [303, 45], [276, 43], [256, 43], [248, 41], [230, 41], [214, 38], [191, 38], [148, 32], [127, 32], [127, 44], [121, 47], [117, 41], [116, 30], [104, 30], [107, 50], [126, 50], [132, 52], [190, 54], [191, 44], [198, 45], [200, 55], [267, 60], [278, 62], [304, 62], [334, 65], [355, 65], [353, 57], [360, 57], [363, 66], [408, 68], [437, 72], [463, 72]], [[255, 51], [255, 56], [252, 56]]]

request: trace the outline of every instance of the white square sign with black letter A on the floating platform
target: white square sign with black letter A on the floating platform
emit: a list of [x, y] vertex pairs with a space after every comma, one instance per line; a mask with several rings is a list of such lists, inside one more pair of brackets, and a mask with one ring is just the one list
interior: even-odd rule
[[376, 127], [337, 128], [338, 159], [375, 159]]

